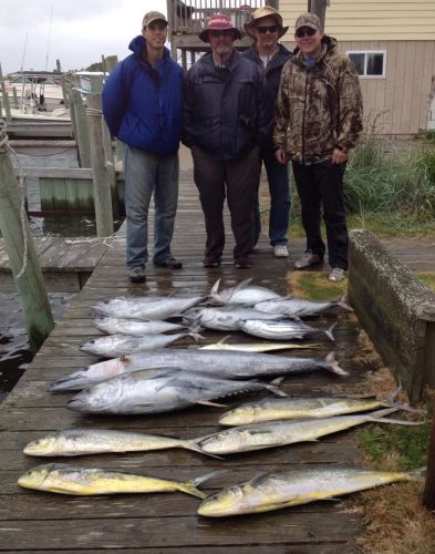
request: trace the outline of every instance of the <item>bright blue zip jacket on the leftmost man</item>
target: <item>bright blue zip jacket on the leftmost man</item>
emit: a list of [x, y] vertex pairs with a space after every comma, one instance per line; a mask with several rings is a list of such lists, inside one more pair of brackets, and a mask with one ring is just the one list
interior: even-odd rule
[[152, 154], [174, 154], [182, 133], [183, 70], [164, 57], [155, 69], [145, 60], [145, 39], [130, 43], [103, 90], [103, 113], [112, 135]]

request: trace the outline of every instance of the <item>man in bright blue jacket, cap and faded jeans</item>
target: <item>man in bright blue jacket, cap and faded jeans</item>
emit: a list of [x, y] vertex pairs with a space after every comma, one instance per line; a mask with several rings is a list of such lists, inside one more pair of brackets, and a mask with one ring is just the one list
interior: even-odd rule
[[178, 199], [178, 146], [182, 132], [183, 71], [165, 48], [167, 20], [151, 11], [133, 54], [118, 63], [103, 90], [103, 113], [112, 135], [126, 144], [126, 266], [130, 280], [145, 280], [147, 220], [154, 193], [153, 263], [179, 269], [170, 253]]

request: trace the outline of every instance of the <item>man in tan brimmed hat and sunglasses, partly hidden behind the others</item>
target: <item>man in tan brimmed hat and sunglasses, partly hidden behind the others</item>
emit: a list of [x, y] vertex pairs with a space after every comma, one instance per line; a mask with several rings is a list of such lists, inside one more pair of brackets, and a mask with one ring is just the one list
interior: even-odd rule
[[[241, 55], [253, 61], [263, 71], [267, 85], [268, 105], [273, 109], [278, 95], [281, 71], [284, 63], [291, 58], [286, 47], [278, 40], [286, 34], [288, 27], [282, 27], [281, 14], [271, 6], [258, 8], [252, 14], [252, 21], [245, 24], [245, 29], [256, 43]], [[287, 230], [290, 220], [290, 182], [289, 165], [277, 162], [272, 141], [273, 129], [270, 127], [269, 142], [261, 148], [261, 161], [265, 164], [269, 182], [270, 216], [269, 240], [277, 258], [287, 258]], [[260, 207], [258, 191], [253, 212], [253, 242], [258, 240], [261, 232]]]

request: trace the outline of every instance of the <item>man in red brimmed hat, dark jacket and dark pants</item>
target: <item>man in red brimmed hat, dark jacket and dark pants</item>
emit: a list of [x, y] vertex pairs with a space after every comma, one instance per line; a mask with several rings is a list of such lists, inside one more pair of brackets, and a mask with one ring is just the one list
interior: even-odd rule
[[220, 265], [227, 196], [236, 239], [235, 264], [239, 269], [249, 268], [259, 146], [269, 140], [265, 78], [258, 66], [234, 49], [240, 32], [228, 16], [211, 16], [199, 38], [210, 43], [211, 53], [187, 72], [183, 142], [191, 148], [194, 178], [205, 216], [207, 243], [203, 264]]

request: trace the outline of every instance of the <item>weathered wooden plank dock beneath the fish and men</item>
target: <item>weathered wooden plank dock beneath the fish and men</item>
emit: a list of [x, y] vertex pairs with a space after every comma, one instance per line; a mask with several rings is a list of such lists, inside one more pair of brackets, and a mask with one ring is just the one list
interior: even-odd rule
[[[203, 294], [207, 293], [219, 277], [227, 286], [253, 277], [256, 284], [270, 287], [277, 293], [288, 291], [287, 279], [296, 257], [300, 254], [301, 242], [298, 242], [298, 248], [292, 249], [288, 259], [277, 259], [263, 238], [259, 250], [253, 255], [252, 269], [237, 270], [232, 264], [232, 239], [228, 237], [222, 266], [205, 270], [201, 265], [204, 238], [197, 192], [190, 178], [186, 176], [182, 179], [173, 243], [174, 255], [184, 263], [183, 269], [169, 271], [149, 264], [146, 284], [132, 285], [124, 268], [125, 238], [115, 238], [112, 247], [102, 254], [94, 273], [30, 368], [1, 406], [0, 552], [359, 552], [354, 537], [363, 529], [363, 524], [360, 515], [353, 510], [353, 497], [259, 515], [208, 520], [196, 515], [198, 500], [182, 493], [73, 497], [21, 490], [17, 485], [21, 473], [39, 463], [48, 462], [48, 459], [25, 456], [22, 453], [23, 447], [53, 430], [96, 427], [194, 438], [219, 429], [217, 419], [221, 410], [217, 408], [198, 407], [151, 417], [99, 418], [68, 410], [65, 403], [71, 398], [70, 393], [50, 394], [46, 391], [52, 380], [96, 361], [94, 357], [83, 355], [77, 348], [86, 338], [100, 335], [92, 326], [91, 305], [96, 300], [124, 295]], [[434, 256], [432, 263], [433, 270]], [[327, 327], [334, 319], [336, 316], [322, 318], [317, 325]], [[216, 342], [224, 336], [210, 331], [205, 335], [207, 342]], [[342, 367], [350, 371], [348, 382], [354, 383], [363, 379], [365, 372], [372, 368], [366, 360], [363, 362], [367, 350], [364, 342], [359, 341], [360, 329], [355, 318], [352, 315], [341, 315], [334, 335], [336, 357]], [[241, 336], [239, 338], [247, 340]], [[187, 343], [189, 342], [186, 340], [185, 345], [180, 346]], [[315, 350], [315, 356], [323, 357], [331, 348], [331, 342], [324, 340], [322, 348]], [[283, 356], [292, 353], [287, 351]], [[312, 351], [299, 350], [294, 356], [312, 355]], [[314, 396], [330, 391], [336, 383], [338, 378], [333, 376], [313, 372], [287, 379], [282, 389], [289, 394]], [[235, 406], [242, 400], [245, 397], [230, 403]], [[358, 465], [361, 462], [352, 431], [341, 432], [314, 443], [228, 456], [224, 461], [177, 450], [53, 461], [178, 480], [217, 469], [227, 470], [224, 475], [205, 484], [204, 489], [210, 492], [272, 470], [332, 464]]]

